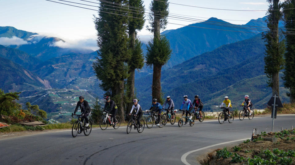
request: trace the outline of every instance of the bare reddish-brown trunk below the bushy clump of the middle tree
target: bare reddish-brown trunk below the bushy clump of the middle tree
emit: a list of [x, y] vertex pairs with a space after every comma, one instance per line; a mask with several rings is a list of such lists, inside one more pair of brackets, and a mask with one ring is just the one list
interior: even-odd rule
[[162, 65], [154, 64], [153, 70], [153, 84], [152, 84], [152, 97], [160, 100], [161, 98], [161, 69]]

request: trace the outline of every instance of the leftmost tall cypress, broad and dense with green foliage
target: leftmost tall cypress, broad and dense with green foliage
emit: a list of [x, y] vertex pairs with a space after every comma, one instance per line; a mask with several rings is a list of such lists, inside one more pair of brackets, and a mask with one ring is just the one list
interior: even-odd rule
[[[127, 0], [107, 0], [127, 5]], [[109, 9], [105, 9], [109, 8]], [[116, 10], [112, 10], [116, 9]], [[97, 46], [100, 48], [92, 68], [101, 80], [100, 88], [118, 105], [118, 115], [124, 119], [124, 79], [128, 78], [126, 61], [131, 58], [128, 49], [128, 8], [116, 8], [100, 1], [99, 16], [94, 17]], [[107, 13], [105, 13], [107, 12]], [[125, 15], [125, 16], [123, 16]]]

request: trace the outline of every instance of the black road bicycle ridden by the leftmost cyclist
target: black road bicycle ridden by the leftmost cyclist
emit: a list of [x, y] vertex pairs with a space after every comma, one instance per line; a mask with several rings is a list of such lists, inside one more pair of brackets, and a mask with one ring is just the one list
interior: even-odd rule
[[[72, 118], [73, 118], [73, 113], [72, 113]], [[75, 114], [76, 115], [76, 114]], [[81, 122], [81, 115], [76, 115], [78, 116], [77, 121], [73, 124], [72, 127], [72, 136], [75, 138], [78, 134], [81, 134], [82, 131], [84, 132], [85, 136], [88, 136], [91, 133], [92, 130], [92, 123], [90, 120], [88, 120], [89, 126], [85, 127], [85, 120], [83, 120], [83, 123]]]

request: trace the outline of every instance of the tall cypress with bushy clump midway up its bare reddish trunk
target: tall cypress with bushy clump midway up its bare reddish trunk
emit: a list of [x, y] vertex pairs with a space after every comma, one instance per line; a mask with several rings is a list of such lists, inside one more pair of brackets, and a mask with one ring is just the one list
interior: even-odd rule
[[165, 29], [168, 16], [168, 0], [152, 1], [150, 4], [148, 30], [154, 33], [153, 42], [148, 42], [146, 54], [147, 65], [153, 65], [152, 98], [161, 101], [161, 70], [170, 59], [172, 50], [165, 36], [160, 36], [160, 30]]

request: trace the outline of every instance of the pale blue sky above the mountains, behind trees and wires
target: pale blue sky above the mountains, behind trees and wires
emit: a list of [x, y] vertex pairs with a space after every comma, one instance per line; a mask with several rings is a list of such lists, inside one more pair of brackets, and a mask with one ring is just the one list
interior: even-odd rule
[[[61, 2], [58, 0], [53, 0]], [[84, 2], [81, 0], [69, 0], [71, 2], [84, 3], [89, 5], [98, 5], [94, 3]], [[97, 0], [88, 0], [91, 2], [99, 2]], [[148, 8], [151, 0], [144, 1], [144, 5]], [[171, 3], [179, 3], [184, 5], [193, 5], [207, 8], [219, 9], [236, 9], [236, 10], [267, 10], [268, 3], [266, 0], [170, 0]], [[63, 2], [66, 3], [66, 2]], [[80, 5], [82, 6], [82, 5]], [[89, 7], [97, 9], [96, 7]], [[251, 20], [265, 16], [265, 11], [225, 11], [213, 9], [200, 9], [196, 7], [188, 7], [182, 5], [169, 5], [170, 13], [183, 14], [199, 17], [217, 17], [219, 19], [229, 20]], [[0, 26], [13, 26], [20, 30], [36, 32], [41, 35], [54, 36], [64, 39], [67, 44], [89, 45], [92, 49], [96, 49], [95, 39], [96, 30], [93, 24], [93, 16], [97, 16], [97, 12], [88, 9], [81, 9], [68, 5], [62, 5], [45, 0], [0, 0]], [[202, 18], [200, 18], [202, 19]], [[206, 19], [204, 19], [206, 20]], [[246, 21], [229, 21], [234, 24], [246, 24]], [[179, 20], [169, 20], [170, 23], [177, 24], [193, 24], [193, 22], [185, 22]], [[147, 21], [146, 21], [147, 22]], [[181, 25], [168, 24], [166, 30], [176, 29]], [[198, 30], [198, 28], [196, 28]], [[144, 28], [139, 31], [142, 40], [150, 39], [150, 33]], [[67, 44], [64, 44], [66, 46]]]

